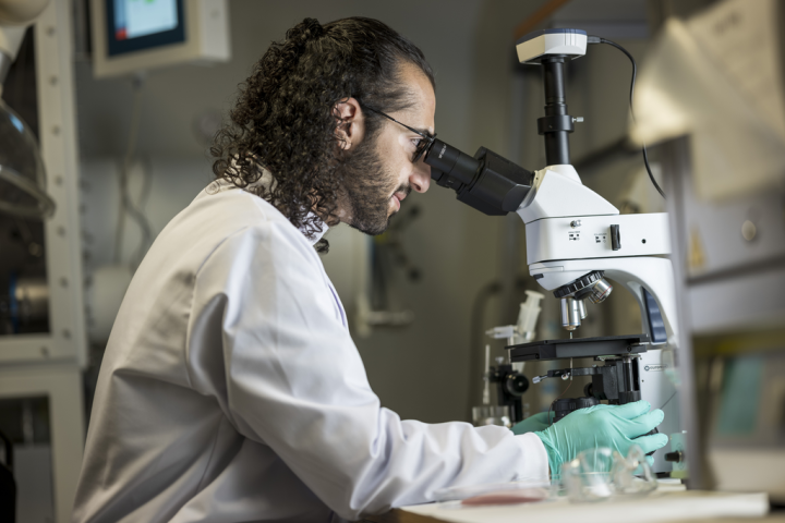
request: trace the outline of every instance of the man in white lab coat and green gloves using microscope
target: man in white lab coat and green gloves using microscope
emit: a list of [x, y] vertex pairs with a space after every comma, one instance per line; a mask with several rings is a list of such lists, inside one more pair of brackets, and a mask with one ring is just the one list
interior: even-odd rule
[[514, 435], [379, 405], [316, 251], [328, 226], [378, 234], [427, 191], [434, 111], [422, 52], [381, 22], [305, 20], [270, 47], [216, 139], [218, 180], [120, 308], [74, 521], [352, 520], [447, 486], [547, 479], [662, 421], [644, 402], [600, 405]]

